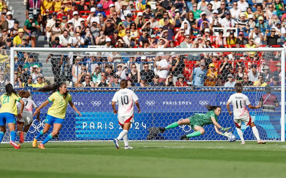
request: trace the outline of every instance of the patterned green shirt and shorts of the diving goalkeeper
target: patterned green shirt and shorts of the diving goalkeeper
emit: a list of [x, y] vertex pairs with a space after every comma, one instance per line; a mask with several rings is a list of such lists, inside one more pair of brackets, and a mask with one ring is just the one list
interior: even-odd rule
[[190, 125], [198, 125], [198, 126], [205, 126], [213, 124], [211, 117], [215, 118], [217, 121], [217, 115], [214, 113], [214, 111], [209, 111], [205, 114], [194, 114], [193, 116], [189, 117], [190, 119]]

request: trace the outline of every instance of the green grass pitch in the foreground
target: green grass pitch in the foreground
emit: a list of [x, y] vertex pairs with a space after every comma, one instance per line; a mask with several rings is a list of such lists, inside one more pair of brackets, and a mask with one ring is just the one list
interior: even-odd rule
[[[123, 146], [123, 141], [120, 141]], [[286, 144], [255, 141], [49, 142], [46, 149], [0, 144], [0, 177], [285, 177]]]

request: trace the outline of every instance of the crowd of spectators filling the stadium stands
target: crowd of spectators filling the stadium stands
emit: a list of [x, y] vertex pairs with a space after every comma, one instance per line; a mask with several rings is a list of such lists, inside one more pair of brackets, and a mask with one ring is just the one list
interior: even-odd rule
[[[18, 21], [11, 20], [11, 12], [2, 8], [2, 49], [35, 47], [40, 26], [50, 47], [56, 48], [286, 47], [286, 13], [281, 0], [27, 0], [24, 3], [27, 20], [22, 28]], [[31, 53], [15, 55], [16, 62], [25, 63], [18, 67], [15, 85], [19, 82], [24, 83], [21, 86], [32, 85], [31, 82], [46, 85], [41, 64], [35, 67], [32, 56]], [[279, 54], [121, 56], [124, 55], [111, 52], [84, 57], [50, 54], [47, 62], [52, 63], [54, 82], [61, 80], [65, 64], [69, 85], [75, 87], [118, 86], [121, 79], [128, 79], [130, 86], [232, 87], [235, 82], [274, 86], [284, 79]]]

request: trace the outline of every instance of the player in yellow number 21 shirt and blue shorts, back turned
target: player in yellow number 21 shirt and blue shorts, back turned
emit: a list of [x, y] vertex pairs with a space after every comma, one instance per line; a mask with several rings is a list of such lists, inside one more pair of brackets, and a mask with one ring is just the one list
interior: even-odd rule
[[24, 101], [19, 97], [18, 93], [13, 89], [13, 86], [9, 83], [5, 86], [6, 93], [2, 94], [0, 97], [1, 108], [0, 108], [0, 143], [6, 132], [6, 123], [10, 130], [11, 141], [10, 144], [14, 146], [15, 149], [19, 149], [19, 146], [15, 143], [16, 139], [16, 118], [17, 116], [17, 105], [16, 101], [21, 103], [21, 109], [18, 114], [18, 119], [22, 118], [22, 112], [24, 109]]

